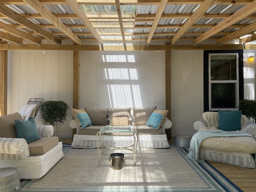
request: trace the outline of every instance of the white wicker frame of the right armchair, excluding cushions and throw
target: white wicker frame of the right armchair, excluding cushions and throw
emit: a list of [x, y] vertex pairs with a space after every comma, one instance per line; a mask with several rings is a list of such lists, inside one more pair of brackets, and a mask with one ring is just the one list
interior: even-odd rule
[[[215, 113], [215, 112], [210, 112], [210, 113]], [[242, 124], [242, 127], [241, 127], [242, 132], [250, 133], [254, 137], [256, 136], [256, 124], [248, 121], [248, 118], [245, 115], [242, 115], [241, 124]], [[205, 122], [204, 119], [199, 119], [198, 121], [196, 121], [193, 127], [197, 131], [212, 130], [212, 127], [209, 127], [209, 125]], [[216, 127], [213, 127], [213, 129], [216, 129]], [[253, 138], [251, 139], [253, 141]], [[205, 142], [208, 142], [206, 140], [207, 139], [205, 139]], [[214, 140], [214, 142], [217, 143], [219, 142], [219, 140], [216, 139]], [[250, 147], [253, 148], [253, 146], [255, 145], [256, 145], [256, 141]], [[230, 151], [220, 151], [212, 148], [205, 148], [202, 145], [199, 148], [199, 158], [202, 160], [223, 162], [223, 163], [237, 165], [245, 168], [255, 168], [254, 156], [255, 156], [254, 154], [251, 154], [245, 151], [234, 151], [234, 149]]]

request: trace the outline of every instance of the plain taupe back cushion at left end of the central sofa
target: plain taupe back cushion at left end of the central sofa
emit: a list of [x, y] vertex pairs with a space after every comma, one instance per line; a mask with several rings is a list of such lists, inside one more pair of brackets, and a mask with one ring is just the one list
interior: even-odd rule
[[108, 121], [108, 109], [93, 109], [93, 108], [84, 108], [87, 112], [89, 118], [92, 121], [92, 125], [107, 125]]

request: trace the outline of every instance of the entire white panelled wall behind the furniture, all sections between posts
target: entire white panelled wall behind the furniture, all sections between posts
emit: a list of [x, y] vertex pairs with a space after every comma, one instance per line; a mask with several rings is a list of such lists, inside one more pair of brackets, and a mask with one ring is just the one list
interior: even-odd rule
[[[72, 51], [8, 53], [8, 113], [18, 112], [30, 97], [64, 100], [72, 106]], [[244, 81], [244, 97], [253, 99], [255, 62], [246, 62], [250, 54], [256, 53], [248, 50], [244, 56], [250, 72]], [[122, 59], [125, 62], [120, 62]], [[164, 109], [164, 62], [164, 51], [80, 51], [80, 107], [156, 105]], [[110, 89], [110, 85], [119, 89]], [[117, 93], [119, 97], [110, 97]], [[193, 123], [203, 112], [203, 50], [172, 50], [171, 100], [172, 136], [194, 134]], [[36, 120], [40, 123], [39, 117]], [[72, 134], [68, 126], [71, 119], [70, 114], [61, 129], [63, 136]]]

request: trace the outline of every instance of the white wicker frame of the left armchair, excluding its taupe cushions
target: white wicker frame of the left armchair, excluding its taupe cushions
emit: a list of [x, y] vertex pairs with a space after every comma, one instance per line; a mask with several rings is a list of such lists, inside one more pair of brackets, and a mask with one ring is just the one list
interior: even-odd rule
[[[37, 127], [41, 137], [51, 137], [54, 127]], [[18, 169], [20, 179], [39, 180], [63, 157], [62, 142], [42, 155], [30, 156], [29, 145], [23, 138], [0, 137], [0, 168]]]

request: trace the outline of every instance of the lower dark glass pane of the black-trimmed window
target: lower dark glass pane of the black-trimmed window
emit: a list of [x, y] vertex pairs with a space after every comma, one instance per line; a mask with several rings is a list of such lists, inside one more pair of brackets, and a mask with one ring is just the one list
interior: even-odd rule
[[236, 83], [211, 83], [211, 108], [236, 108]]

